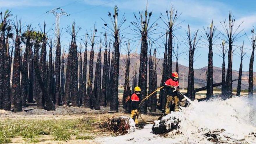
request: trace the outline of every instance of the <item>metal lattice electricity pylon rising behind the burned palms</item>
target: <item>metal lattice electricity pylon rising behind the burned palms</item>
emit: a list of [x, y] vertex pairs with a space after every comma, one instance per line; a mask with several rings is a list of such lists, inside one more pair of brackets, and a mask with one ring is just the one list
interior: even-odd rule
[[54, 48], [56, 49], [58, 44], [58, 35], [60, 34], [60, 17], [62, 15], [69, 16], [62, 8], [54, 8], [52, 10], [47, 11], [46, 13], [53, 13], [55, 16], [55, 39], [54, 39]]

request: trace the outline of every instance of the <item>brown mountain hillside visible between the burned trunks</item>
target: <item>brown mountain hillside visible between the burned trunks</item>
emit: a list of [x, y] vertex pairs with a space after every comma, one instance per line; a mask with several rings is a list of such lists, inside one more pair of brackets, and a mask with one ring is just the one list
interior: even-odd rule
[[[83, 57], [83, 54], [82, 54]], [[89, 57], [90, 57], [90, 51], [88, 51], [87, 54], [87, 61], [89, 63]], [[130, 66], [130, 81], [132, 82], [132, 77], [133, 77], [133, 73], [135, 71], [137, 71], [137, 73], [139, 72], [139, 57], [140, 55], [137, 53], [132, 53], [130, 56], [130, 62], [131, 62], [131, 66]], [[103, 58], [104, 58], [104, 52], [102, 52], [102, 65], [103, 65]], [[124, 84], [124, 77], [125, 77], [125, 60], [126, 60], [126, 56], [125, 55], [120, 55], [120, 70], [119, 70], [119, 84], [123, 85]], [[158, 86], [160, 86], [160, 82], [162, 79], [162, 75], [161, 75], [161, 70], [162, 70], [162, 64], [163, 64], [163, 59], [157, 59], [157, 61], [159, 60], [158, 66], [157, 66], [157, 84]], [[95, 53], [94, 55], [94, 62], [96, 64], [97, 61], [97, 54]], [[94, 66], [95, 66], [94, 64]], [[173, 62], [173, 70], [175, 70], [176, 67], [176, 62]], [[87, 64], [87, 71], [89, 69], [89, 65]], [[187, 79], [188, 79], [188, 67], [184, 66], [184, 65], [179, 65], [179, 81], [180, 81], [180, 86], [182, 88], [186, 88], [187, 87]], [[194, 75], [195, 75], [195, 88], [199, 88], [202, 86], [206, 86], [206, 74], [205, 72], [207, 71], [207, 66], [202, 67], [201, 69], [194, 69]], [[213, 83], [219, 83], [221, 82], [221, 71], [222, 69], [220, 67], [213, 67]], [[94, 68], [94, 72], [95, 72], [95, 68]], [[88, 74], [88, 72], [87, 72]], [[254, 72], [254, 75], [256, 74], [256, 72]], [[248, 78], [249, 72], [243, 72], [242, 73], [242, 78]], [[137, 74], [138, 77], [138, 74]], [[238, 71], [233, 70], [232, 73], [232, 79], [238, 79]], [[138, 80], [138, 78], [137, 78]], [[233, 82], [232, 84], [233, 88], [236, 89], [237, 87], [237, 81]], [[243, 80], [242, 81], [242, 85], [241, 85], [242, 89], [247, 89], [248, 88], [248, 80]]]

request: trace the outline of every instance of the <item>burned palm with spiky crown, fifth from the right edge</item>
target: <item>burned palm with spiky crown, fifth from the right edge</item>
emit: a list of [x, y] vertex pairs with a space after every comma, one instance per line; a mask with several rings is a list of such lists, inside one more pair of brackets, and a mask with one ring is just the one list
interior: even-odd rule
[[213, 26], [213, 21], [211, 22], [209, 27], [204, 27], [205, 36], [203, 37], [205, 40], [207, 40], [208, 43], [206, 45], [209, 48], [208, 53], [208, 70], [207, 70], [207, 93], [206, 98], [209, 99], [211, 96], [213, 96], [213, 47], [214, 43], [216, 42], [216, 38], [219, 35], [219, 33], [216, 33], [216, 27]]

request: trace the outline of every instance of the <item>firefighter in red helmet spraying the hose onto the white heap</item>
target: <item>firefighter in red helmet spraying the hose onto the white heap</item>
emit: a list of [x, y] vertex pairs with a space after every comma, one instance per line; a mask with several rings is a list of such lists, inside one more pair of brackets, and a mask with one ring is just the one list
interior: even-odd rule
[[165, 106], [165, 114], [169, 114], [170, 113], [170, 104], [172, 102], [172, 100], [175, 103], [175, 107], [174, 107], [174, 111], [179, 111], [179, 98], [178, 98], [178, 91], [179, 89], [177, 89], [177, 87], [179, 86], [179, 81], [178, 81], [178, 73], [177, 72], [173, 72], [172, 76], [170, 79], [168, 79], [165, 84], [164, 84], [164, 88], [166, 89], [166, 106]]

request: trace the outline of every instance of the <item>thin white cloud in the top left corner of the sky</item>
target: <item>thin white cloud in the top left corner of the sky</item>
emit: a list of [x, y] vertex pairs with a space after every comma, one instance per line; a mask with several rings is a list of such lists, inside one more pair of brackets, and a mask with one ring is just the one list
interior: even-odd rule
[[49, 6], [50, 2], [40, 0], [0, 0], [1, 8], [13, 8], [23, 6]]

